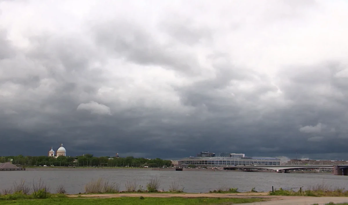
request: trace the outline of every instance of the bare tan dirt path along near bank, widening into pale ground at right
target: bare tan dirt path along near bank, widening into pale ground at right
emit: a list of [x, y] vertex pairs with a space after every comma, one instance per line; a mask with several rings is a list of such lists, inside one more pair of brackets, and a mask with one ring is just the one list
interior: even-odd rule
[[310, 204], [326, 204], [329, 202], [345, 203], [348, 202], [348, 197], [304, 197], [304, 196], [270, 196], [268, 192], [246, 192], [237, 194], [167, 194], [167, 193], [119, 193], [119, 194], [86, 194], [86, 195], [68, 195], [69, 197], [82, 197], [82, 198], [116, 198], [116, 197], [183, 197], [183, 198], [195, 198], [195, 197], [208, 197], [208, 198], [263, 198], [265, 202], [248, 203], [244, 205], [310, 205]]

